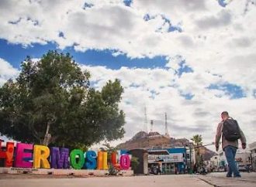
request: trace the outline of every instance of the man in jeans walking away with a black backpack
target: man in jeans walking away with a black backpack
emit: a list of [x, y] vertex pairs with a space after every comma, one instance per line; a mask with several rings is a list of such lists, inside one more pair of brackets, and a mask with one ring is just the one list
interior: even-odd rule
[[228, 163], [227, 177], [232, 177], [232, 173], [234, 173], [234, 177], [241, 177], [236, 166], [235, 156], [238, 148], [238, 139], [241, 141], [242, 148], [246, 148], [244, 133], [240, 130], [237, 121], [230, 117], [227, 111], [223, 111], [223, 113], [221, 113], [221, 118], [222, 121], [218, 125], [216, 131], [216, 151], [219, 150], [220, 138], [222, 137], [222, 148], [225, 152]]

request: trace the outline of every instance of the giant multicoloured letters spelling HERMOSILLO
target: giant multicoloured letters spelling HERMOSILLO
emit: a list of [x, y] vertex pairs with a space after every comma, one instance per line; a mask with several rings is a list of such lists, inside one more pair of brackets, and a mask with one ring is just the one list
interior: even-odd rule
[[[15, 149], [16, 147], [16, 149]], [[116, 151], [111, 154], [112, 165], [117, 169], [129, 169], [130, 157], [124, 150]], [[119, 157], [121, 155], [121, 157]], [[48, 148], [43, 145], [32, 145], [7, 142], [2, 148], [0, 140], [0, 158], [5, 160], [5, 167], [16, 168], [74, 168], [74, 169], [99, 169], [107, 170], [108, 152], [81, 151], [74, 149], [69, 153], [68, 148]], [[15, 159], [13, 159], [15, 158]], [[13, 162], [14, 160], [14, 162]], [[2, 165], [1, 165], [2, 166]], [[1, 167], [0, 166], [0, 167]]]

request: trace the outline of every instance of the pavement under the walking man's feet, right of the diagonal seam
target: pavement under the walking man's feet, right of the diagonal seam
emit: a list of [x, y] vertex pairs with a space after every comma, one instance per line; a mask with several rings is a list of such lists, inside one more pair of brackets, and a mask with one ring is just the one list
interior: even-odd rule
[[226, 172], [209, 173], [208, 175], [198, 175], [197, 177], [214, 186], [255, 186], [256, 173], [241, 172], [241, 178], [227, 178]]

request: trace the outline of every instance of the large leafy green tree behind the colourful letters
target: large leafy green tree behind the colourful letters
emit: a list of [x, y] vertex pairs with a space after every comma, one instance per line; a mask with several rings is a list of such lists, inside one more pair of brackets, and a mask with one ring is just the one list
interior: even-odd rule
[[69, 53], [49, 51], [38, 62], [27, 57], [16, 80], [0, 87], [0, 133], [16, 141], [70, 148], [122, 138], [120, 81], [109, 80], [95, 90], [89, 77]]

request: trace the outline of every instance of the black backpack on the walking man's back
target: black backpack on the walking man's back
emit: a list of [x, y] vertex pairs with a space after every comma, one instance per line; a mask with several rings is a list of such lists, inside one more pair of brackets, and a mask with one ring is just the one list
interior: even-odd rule
[[240, 138], [240, 128], [237, 121], [227, 119], [223, 122], [223, 136], [227, 141], [237, 141]]

